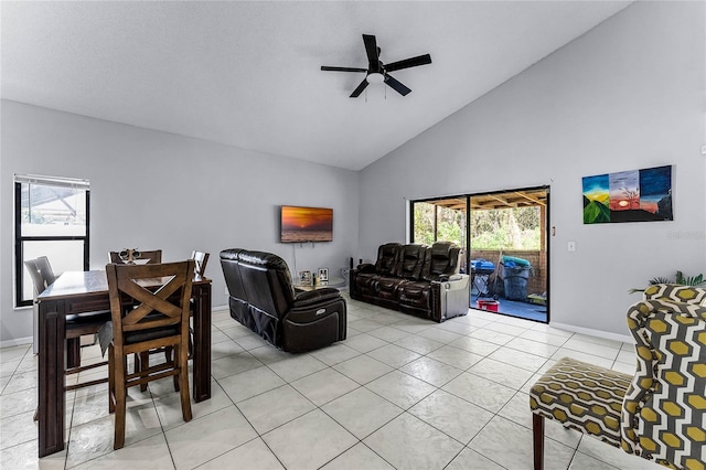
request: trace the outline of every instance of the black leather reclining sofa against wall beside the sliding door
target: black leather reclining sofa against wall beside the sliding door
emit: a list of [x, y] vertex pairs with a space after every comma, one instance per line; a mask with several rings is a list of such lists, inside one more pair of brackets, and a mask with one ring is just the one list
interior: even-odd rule
[[374, 265], [351, 269], [351, 298], [439, 323], [466, 314], [470, 285], [459, 274], [460, 255], [449, 242], [381, 245]]

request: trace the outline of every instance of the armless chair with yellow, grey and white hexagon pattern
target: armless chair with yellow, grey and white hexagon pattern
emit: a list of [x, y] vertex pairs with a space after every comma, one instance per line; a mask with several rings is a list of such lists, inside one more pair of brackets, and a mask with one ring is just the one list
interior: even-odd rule
[[634, 376], [564, 357], [532, 387], [535, 470], [545, 418], [670, 468], [706, 468], [706, 289], [651, 286], [628, 327]]

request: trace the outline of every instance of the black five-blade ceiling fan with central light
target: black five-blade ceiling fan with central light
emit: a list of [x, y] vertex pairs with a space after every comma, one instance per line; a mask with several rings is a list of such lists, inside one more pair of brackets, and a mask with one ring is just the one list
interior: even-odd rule
[[429, 54], [417, 55], [416, 57], [405, 58], [403, 61], [393, 62], [392, 64], [383, 64], [379, 60], [381, 49], [377, 46], [377, 41], [372, 34], [363, 34], [363, 44], [365, 44], [365, 52], [367, 53], [367, 68], [357, 67], [330, 67], [322, 65], [322, 71], [331, 72], [365, 72], [365, 78], [353, 90], [351, 98], [357, 98], [361, 93], [371, 83], [385, 83], [387, 86], [399, 93], [402, 96], [406, 96], [411, 92], [405, 85], [396, 81], [388, 72], [400, 71], [403, 68], [416, 67], [418, 65], [426, 65], [431, 63], [431, 56]]

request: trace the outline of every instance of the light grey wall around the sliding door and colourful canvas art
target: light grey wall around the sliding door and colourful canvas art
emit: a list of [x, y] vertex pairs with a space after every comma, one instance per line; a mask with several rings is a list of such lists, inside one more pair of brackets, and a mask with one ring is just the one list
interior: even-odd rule
[[[364, 169], [360, 255], [405, 242], [405, 199], [549, 184], [552, 321], [627, 335], [629, 288], [706, 274], [705, 13], [634, 3]], [[582, 224], [581, 177], [665, 164], [673, 222]]]

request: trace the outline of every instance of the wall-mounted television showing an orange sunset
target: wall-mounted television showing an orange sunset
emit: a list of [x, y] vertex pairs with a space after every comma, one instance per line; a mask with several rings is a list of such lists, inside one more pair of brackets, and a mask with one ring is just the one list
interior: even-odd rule
[[333, 209], [282, 205], [281, 243], [333, 242]]

